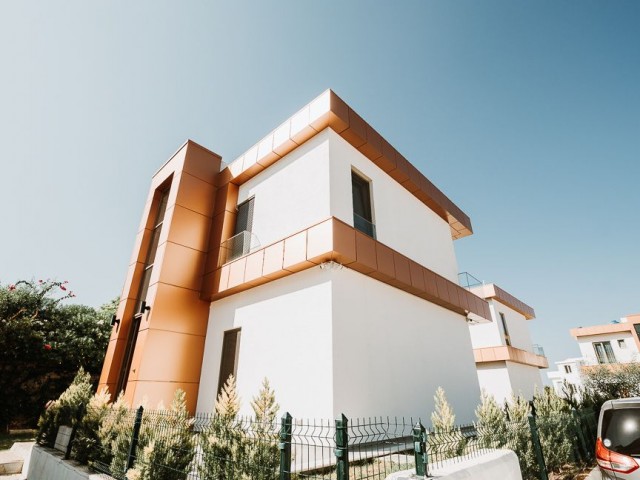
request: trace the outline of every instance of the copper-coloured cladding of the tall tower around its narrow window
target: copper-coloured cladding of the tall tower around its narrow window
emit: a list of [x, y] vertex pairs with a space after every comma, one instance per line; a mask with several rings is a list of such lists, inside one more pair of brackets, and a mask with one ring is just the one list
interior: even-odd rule
[[[187, 392], [189, 410], [195, 410], [210, 306], [200, 299], [200, 291], [212, 219], [234, 211], [236, 203], [233, 198], [229, 199], [230, 204], [216, 199], [215, 180], [220, 163], [218, 155], [188, 141], [153, 177], [118, 307], [120, 326], [111, 334], [100, 377], [101, 387], [117, 393], [114, 390], [128, 329], [136, 313], [140, 276], [156, 218], [154, 195], [159, 187], [170, 183], [146, 297], [151, 310], [140, 324], [125, 389], [125, 398], [132, 404], [147, 397], [151, 405], [159, 401], [168, 405], [175, 390], [182, 388]], [[221, 189], [225, 191], [225, 200], [227, 192], [234, 188]], [[225, 222], [220, 222], [220, 226], [224, 225]]]

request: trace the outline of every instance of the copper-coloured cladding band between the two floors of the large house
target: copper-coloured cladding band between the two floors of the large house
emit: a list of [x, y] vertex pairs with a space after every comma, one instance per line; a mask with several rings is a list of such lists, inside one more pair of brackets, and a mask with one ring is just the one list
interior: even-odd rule
[[202, 294], [215, 301], [327, 261], [461, 315], [491, 319], [481, 298], [334, 217], [223, 265], [212, 274], [212, 288]]

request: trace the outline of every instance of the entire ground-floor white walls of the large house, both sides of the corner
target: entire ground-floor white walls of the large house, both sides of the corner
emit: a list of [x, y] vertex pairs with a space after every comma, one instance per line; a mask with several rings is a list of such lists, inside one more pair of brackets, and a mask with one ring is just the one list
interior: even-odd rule
[[315, 267], [213, 302], [198, 411], [213, 409], [224, 331], [238, 327], [243, 414], [267, 376], [294, 417], [428, 423], [442, 386], [457, 422], [473, 420], [480, 390], [464, 318], [348, 268]]

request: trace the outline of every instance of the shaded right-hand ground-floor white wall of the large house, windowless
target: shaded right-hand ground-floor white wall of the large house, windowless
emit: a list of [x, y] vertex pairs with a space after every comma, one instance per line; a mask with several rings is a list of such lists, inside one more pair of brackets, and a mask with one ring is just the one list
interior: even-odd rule
[[419, 416], [444, 388], [456, 422], [480, 390], [464, 317], [344, 268], [332, 272], [334, 414]]

